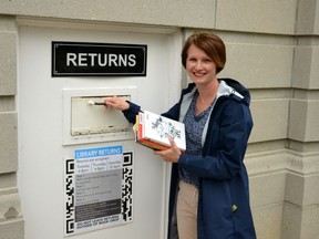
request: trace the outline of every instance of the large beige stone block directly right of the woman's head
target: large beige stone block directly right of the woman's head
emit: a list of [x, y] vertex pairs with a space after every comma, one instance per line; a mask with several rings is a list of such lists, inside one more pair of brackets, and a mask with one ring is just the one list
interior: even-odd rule
[[249, 38], [238, 42], [225, 38], [224, 41], [227, 62], [220, 75], [237, 79], [249, 89], [290, 87], [294, 58], [290, 42], [280, 45], [270, 37], [254, 43]]

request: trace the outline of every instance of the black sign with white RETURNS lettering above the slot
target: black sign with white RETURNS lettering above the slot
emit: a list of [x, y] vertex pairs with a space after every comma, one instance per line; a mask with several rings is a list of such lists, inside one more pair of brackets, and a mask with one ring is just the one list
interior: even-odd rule
[[52, 42], [52, 76], [145, 76], [147, 45]]

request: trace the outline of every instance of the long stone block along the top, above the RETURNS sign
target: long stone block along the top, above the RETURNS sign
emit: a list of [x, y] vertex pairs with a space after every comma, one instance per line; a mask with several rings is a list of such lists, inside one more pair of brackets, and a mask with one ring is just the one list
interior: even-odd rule
[[[195, 7], [196, 6], [196, 7]], [[78, 19], [155, 25], [181, 25], [209, 28], [215, 25], [216, 0], [193, 1], [168, 0], [88, 0], [69, 1], [0, 1], [0, 13], [44, 18]]]

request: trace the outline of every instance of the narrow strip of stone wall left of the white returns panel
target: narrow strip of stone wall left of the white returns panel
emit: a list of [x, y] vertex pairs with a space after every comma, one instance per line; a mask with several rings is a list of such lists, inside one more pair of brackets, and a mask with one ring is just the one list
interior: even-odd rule
[[23, 238], [23, 219], [17, 186], [18, 28], [14, 17], [0, 15], [0, 238]]

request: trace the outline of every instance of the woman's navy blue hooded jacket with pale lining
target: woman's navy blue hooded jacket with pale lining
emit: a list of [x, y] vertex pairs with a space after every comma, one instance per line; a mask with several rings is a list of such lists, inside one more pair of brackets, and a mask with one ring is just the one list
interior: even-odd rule
[[[250, 205], [248, 175], [244, 156], [253, 128], [250, 94], [240, 83], [220, 79], [231, 91], [219, 95], [203, 138], [203, 157], [181, 155], [179, 166], [199, 177], [197, 239], [256, 239]], [[179, 102], [164, 116], [182, 121], [185, 104], [195, 84], [182, 91]], [[125, 117], [135, 122], [140, 106], [130, 103]], [[182, 118], [181, 118], [182, 116]], [[168, 239], [177, 239], [174, 215], [178, 165], [172, 166]]]

